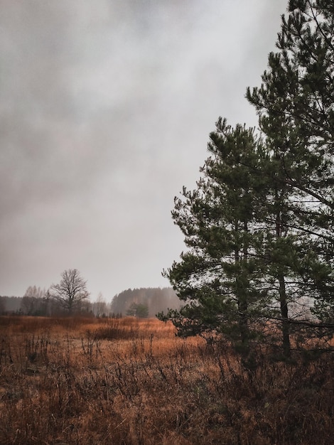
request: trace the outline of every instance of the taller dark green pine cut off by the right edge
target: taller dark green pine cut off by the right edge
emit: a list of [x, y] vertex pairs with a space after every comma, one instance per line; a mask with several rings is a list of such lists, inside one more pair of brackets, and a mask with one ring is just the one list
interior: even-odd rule
[[290, 282], [324, 323], [334, 318], [333, 33], [332, 1], [290, 1], [262, 87], [247, 90], [276, 159], [276, 171], [264, 174], [286, 189], [289, 229], [299, 237], [286, 262]]

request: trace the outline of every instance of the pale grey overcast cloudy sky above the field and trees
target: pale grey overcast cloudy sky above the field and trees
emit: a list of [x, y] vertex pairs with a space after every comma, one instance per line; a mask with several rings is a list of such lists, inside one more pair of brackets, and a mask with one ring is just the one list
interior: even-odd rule
[[219, 116], [244, 99], [287, 0], [0, 0], [0, 295], [65, 269], [92, 300], [169, 286]]

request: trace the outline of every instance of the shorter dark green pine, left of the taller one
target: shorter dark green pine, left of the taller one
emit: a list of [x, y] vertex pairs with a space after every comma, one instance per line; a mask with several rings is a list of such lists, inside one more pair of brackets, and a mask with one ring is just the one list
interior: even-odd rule
[[268, 307], [261, 230], [267, 180], [256, 173], [266, 154], [254, 130], [222, 119], [210, 139], [197, 188], [183, 188], [172, 212], [188, 250], [164, 274], [185, 306], [159, 318], [171, 318], [181, 336], [223, 333], [247, 355]]

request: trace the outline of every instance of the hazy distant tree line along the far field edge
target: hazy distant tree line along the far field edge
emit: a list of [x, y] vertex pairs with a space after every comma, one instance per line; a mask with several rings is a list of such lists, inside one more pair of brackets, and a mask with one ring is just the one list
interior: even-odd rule
[[153, 317], [159, 311], [178, 309], [181, 304], [171, 288], [128, 289], [114, 296], [107, 303], [99, 293], [91, 302], [86, 281], [77, 269], [68, 269], [61, 274], [58, 284], [48, 290], [28, 286], [23, 297], [0, 296], [0, 315], [19, 313], [27, 316], [63, 316], [81, 314], [97, 317], [136, 316]]

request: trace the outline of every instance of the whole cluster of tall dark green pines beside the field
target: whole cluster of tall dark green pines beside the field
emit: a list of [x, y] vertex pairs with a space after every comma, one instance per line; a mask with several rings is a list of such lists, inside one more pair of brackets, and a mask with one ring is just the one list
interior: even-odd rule
[[164, 272], [185, 306], [159, 317], [246, 355], [266, 321], [286, 357], [296, 330], [334, 328], [334, 6], [288, 11], [262, 86], [247, 90], [261, 137], [217, 122], [197, 188], [172, 212], [187, 250]]

